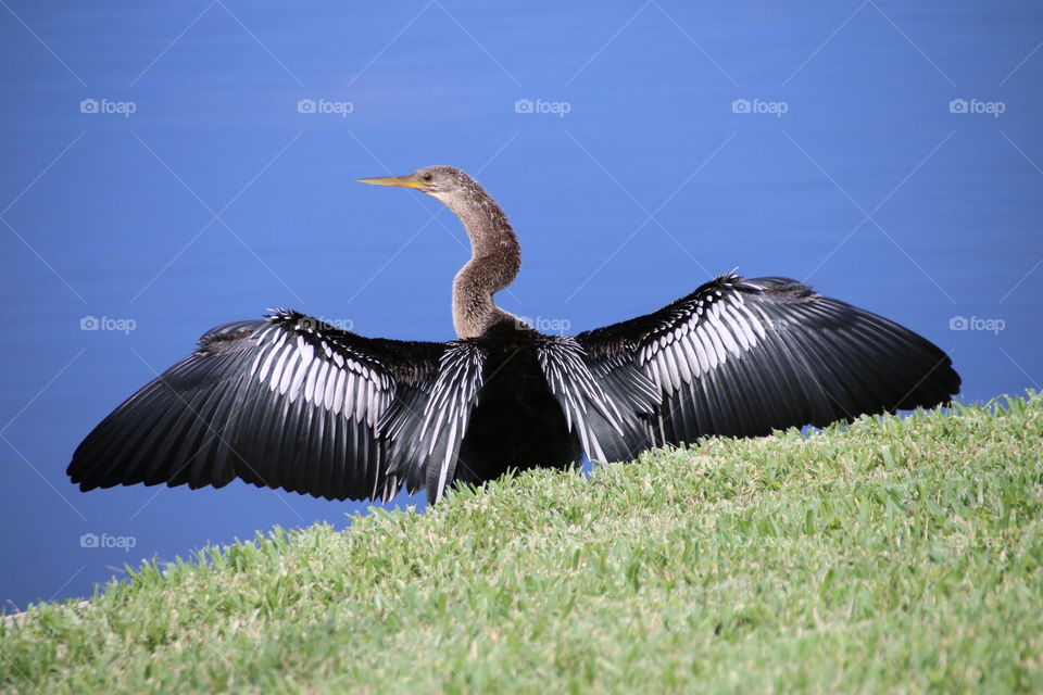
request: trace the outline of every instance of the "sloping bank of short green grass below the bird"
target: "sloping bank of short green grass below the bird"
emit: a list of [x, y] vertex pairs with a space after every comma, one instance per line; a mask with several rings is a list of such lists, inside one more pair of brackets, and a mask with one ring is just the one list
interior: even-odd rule
[[0, 690], [1043, 691], [1043, 397], [536, 471], [0, 623]]

